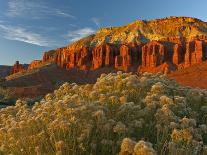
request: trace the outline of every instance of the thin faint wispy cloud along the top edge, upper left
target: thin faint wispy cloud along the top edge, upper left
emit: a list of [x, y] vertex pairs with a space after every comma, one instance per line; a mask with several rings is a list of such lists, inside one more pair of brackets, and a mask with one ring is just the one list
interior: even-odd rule
[[24, 17], [32, 19], [42, 19], [48, 17], [68, 17], [75, 19], [76, 17], [53, 8], [49, 4], [41, 0], [9, 0], [6, 15], [9, 17]]

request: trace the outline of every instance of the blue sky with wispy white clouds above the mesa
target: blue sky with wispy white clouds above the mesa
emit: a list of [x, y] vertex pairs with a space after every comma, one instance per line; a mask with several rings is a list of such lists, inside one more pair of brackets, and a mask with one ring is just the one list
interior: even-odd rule
[[0, 65], [30, 63], [43, 52], [137, 19], [189, 16], [207, 21], [206, 0], [0, 0]]

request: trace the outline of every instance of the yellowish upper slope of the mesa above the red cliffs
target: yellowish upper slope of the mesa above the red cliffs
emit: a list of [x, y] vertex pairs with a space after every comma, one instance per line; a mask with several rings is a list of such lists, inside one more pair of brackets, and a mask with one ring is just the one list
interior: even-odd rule
[[[182, 39], [192, 40], [198, 36], [206, 35], [207, 23], [192, 17], [167, 17], [154, 20], [137, 20], [125, 26], [101, 28], [95, 35], [83, 38], [68, 47], [82, 48], [84, 46], [97, 46], [105, 43], [129, 44], [147, 43], [149, 41], [175, 42]], [[173, 40], [172, 40], [173, 41]]]

